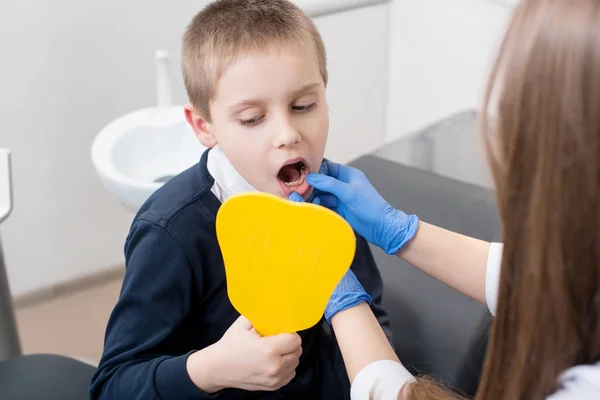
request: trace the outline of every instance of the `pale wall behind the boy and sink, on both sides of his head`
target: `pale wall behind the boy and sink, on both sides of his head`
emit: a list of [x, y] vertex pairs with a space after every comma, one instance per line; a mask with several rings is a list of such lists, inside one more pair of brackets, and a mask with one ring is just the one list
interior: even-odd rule
[[[180, 37], [206, 3], [0, 0], [0, 147], [13, 152], [15, 191], [1, 233], [14, 295], [123, 262], [132, 215], [101, 187], [90, 145], [113, 118], [155, 104], [157, 48], [171, 53], [174, 101], [185, 102]], [[317, 25], [332, 76], [327, 154], [344, 162], [384, 136], [387, 5]]]

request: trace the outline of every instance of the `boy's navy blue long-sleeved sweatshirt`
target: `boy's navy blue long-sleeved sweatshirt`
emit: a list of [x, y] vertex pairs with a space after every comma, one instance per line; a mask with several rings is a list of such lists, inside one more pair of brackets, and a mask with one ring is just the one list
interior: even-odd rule
[[[343, 360], [323, 320], [299, 332], [303, 354], [296, 377], [276, 392], [207, 394], [191, 381], [187, 357], [217, 342], [239, 317], [227, 296], [215, 231], [221, 203], [211, 192], [207, 154], [157, 190], [132, 223], [123, 287], [108, 322], [91, 399], [349, 399]], [[381, 277], [362, 238], [352, 269], [390, 337]]]

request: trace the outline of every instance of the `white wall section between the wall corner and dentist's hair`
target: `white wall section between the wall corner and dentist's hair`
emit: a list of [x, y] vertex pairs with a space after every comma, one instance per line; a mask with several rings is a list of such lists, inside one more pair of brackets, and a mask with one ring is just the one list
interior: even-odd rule
[[478, 108], [513, 0], [395, 0], [390, 5], [386, 139]]

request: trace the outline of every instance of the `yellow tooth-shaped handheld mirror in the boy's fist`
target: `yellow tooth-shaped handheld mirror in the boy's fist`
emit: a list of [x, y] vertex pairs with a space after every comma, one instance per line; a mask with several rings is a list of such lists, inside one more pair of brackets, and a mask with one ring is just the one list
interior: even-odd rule
[[231, 304], [265, 336], [319, 322], [356, 251], [336, 213], [266, 193], [229, 198], [216, 225]]

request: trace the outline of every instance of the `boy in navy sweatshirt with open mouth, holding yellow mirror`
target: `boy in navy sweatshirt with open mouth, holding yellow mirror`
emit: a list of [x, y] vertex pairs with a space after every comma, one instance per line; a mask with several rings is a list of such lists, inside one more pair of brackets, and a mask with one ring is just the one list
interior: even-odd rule
[[[347, 399], [326, 323], [261, 337], [235, 311], [214, 225], [232, 194], [311, 196], [305, 177], [319, 170], [329, 128], [321, 38], [287, 0], [218, 0], [188, 27], [182, 58], [185, 116], [212, 150], [152, 195], [132, 224], [91, 398]], [[381, 278], [362, 238], [352, 268], [387, 329]]]

